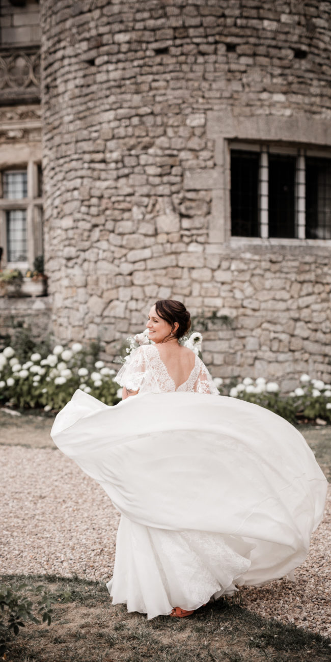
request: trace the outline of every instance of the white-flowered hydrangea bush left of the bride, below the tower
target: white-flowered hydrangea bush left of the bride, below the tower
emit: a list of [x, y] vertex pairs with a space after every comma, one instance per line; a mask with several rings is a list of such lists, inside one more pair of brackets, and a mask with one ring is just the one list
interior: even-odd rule
[[44, 358], [32, 352], [24, 363], [12, 347], [6, 347], [0, 352], [0, 403], [9, 402], [19, 408], [43, 407], [48, 412], [62, 408], [76, 389], [81, 389], [105, 404], [116, 404], [120, 397], [113, 381], [115, 372], [103, 361], [91, 365], [78, 342], [70, 348], [56, 345]]

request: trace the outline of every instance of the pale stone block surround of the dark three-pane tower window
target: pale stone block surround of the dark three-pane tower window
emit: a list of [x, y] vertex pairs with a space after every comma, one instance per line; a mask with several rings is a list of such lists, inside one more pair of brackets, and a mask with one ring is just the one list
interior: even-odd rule
[[[252, 110], [252, 112], [254, 112]], [[280, 111], [281, 112], [281, 111]], [[209, 217], [209, 244], [234, 248], [248, 246], [322, 246], [331, 248], [329, 239], [261, 238], [231, 236], [230, 213], [230, 148], [233, 144], [273, 143], [279, 148], [293, 146], [320, 156], [331, 148], [331, 123], [308, 113], [295, 113], [282, 109], [279, 115], [234, 115], [232, 109], [207, 111], [206, 134], [214, 142], [214, 168], [187, 169], [183, 187], [186, 190], [207, 190], [212, 194]], [[328, 152], [330, 154], [330, 151]]]

